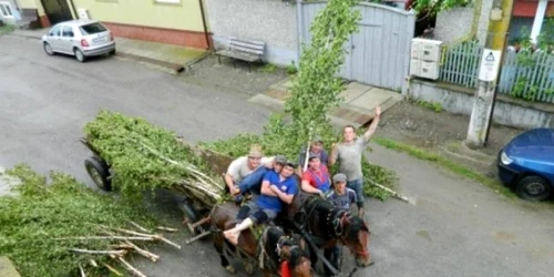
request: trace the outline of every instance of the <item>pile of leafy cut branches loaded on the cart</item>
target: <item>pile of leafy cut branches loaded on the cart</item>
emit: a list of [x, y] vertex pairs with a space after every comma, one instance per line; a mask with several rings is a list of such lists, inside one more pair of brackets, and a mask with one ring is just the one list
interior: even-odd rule
[[194, 194], [207, 206], [222, 201], [225, 185], [192, 145], [144, 119], [101, 111], [89, 122], [86, 142], [115, 172], [112, 183], [124, 195], [154, 188]]

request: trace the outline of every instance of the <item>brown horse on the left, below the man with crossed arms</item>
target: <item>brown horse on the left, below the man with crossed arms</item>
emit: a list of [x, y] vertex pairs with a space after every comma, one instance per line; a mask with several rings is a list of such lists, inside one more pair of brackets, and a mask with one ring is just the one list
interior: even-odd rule
[[[305, 242], [291, 239], [276, 226], [266, 225], [263, 227], [263, 235], [259, 240], [256, 239], [252, 229], [246, 229], [240, 233], [237, 246], [227, 242], [223, 235], [223, 230], [233, 228], [237, 222], [236, 216], [238, 207], [234, 203], [224, 203], [216, 206], [211, 214], [212, 227], [214, 233], [214, 246], [219, 254], [222, 266], [229, 273], [235, 274], [235, 268], [229, 264], [227, 257], [233, 256], [239, 258], [245, 271], [254, 273], [256, 265], [259, 265], [264, 276], [269, 277], [271, 274], [277, 274], [283, 261], [288, 266], [291, 273], [289, 277], [311, 277], [311, 263], [309, 252]], [[287, 276], [283, 276], [287, 277]]]

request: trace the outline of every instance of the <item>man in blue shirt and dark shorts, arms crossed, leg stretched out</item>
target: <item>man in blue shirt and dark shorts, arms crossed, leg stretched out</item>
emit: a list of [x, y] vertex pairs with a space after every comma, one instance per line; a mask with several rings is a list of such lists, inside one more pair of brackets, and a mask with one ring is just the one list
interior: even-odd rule
[[237, 225], [224, 232], [225, 238], [232, 244], [238, 244], [240, 232], [254, 224], [271, 222], [283, 209], [283, 204], [290, 204], [298, 193], [295, 174], [297, 164], [286, 162], [280, 174], [267, 174], [261, 182], [261, 194], [240, 207], [237, 214]]

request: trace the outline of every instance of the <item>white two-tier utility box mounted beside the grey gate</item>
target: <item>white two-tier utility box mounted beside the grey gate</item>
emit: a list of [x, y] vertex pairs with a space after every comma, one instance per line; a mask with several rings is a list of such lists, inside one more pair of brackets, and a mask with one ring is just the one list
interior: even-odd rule
[[413, 39], [410, 75], [437, 80], [440, 73], [442, 41]]

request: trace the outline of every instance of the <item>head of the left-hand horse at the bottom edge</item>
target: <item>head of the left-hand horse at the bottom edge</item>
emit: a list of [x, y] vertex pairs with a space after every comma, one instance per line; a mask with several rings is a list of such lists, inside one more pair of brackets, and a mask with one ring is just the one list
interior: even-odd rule
[[311, 271], [309, 249], [306, 242], [301, 237], [294, 236], [293, 238], [290, 238], [288, 236], [285, 236], [285, 234], [280, 234], [276, 252], [281, 261], [281, 265], [288, 267], [287, 271], [290, 273], [290, 277], [314, 276]]

